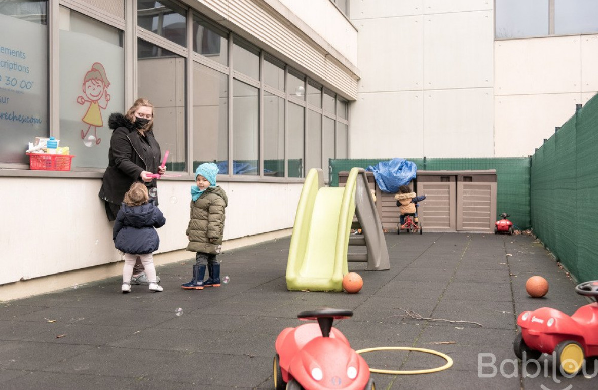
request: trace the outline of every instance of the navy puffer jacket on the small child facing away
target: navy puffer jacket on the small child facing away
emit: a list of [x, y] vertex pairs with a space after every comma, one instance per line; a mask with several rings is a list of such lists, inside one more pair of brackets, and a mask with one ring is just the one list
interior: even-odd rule
[[146, 254], [158, 249], [160, 238], [155, 228], [166, 223], [166, 218], [153, 199], [141, 206], [122, 204], [112, 229], [114, 246], [124, 253]]

